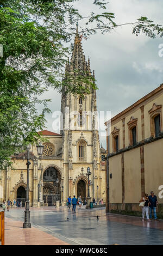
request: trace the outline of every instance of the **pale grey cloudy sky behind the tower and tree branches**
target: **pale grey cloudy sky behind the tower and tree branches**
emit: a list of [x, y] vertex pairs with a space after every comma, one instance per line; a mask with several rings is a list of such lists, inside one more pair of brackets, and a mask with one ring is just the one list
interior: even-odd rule
[[[79, 0], [76, 8], [84, 16], [98, 10], [92, 9], [92, 0]], [[162, 0], [110, 0], [106, 11], [115, 13], [117, 24], [135, 22], [141, 16], [163, 24], [162, 10]], [[80, 26], [83, 22], [79, 22]], [[163, 57], [158, 54], [162, 39], [151, 39], [142, 34], [136, 36], [132, 34], [132, 27], [119, 27], [105, 35], [99, 32], [83, 40], [83, 50], [86, 58], [90, 57], [91, 70], [95, 70], [99, 88], [97, 109], [111, 111], [111, 117], [163, 83]], [[60, 110], [61, 95], [58, 92], [51, 89], [42, 98], [52, 99], [49, 103], [52, 112]], [[52, 114], [46, 119], [47, 130], [54, 131]], [[100, 138], [106, 147], [105, 137]]]

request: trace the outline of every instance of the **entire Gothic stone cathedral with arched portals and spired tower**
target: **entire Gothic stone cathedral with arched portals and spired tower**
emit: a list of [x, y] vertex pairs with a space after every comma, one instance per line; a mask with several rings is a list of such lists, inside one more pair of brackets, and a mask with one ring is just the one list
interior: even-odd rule
[[[88, 78], [95, 78], [90, 68], [90, 59], [86, 62], [78, 33], [74, 39], [72, 57], [65, 69], [66, 74], [75, 76], [76, 70]], [[85, 86], [82, 84], [82, 86]], [[52, 206], [57, 201], [66, 205], [68, 196], [82, 196], [83, 202], [90, 191], [91, 199], [105, 202], [105, 156], [100, 148], [96, 124], [96, 90], [90, 94], [73, 95], [62, 89], [60, 134], [52, 131], [40, 131], [46, 138], [43, 143], [41, 159], [35, 145], [30, 148], [29, 200], [30, 206]], [[72, 125], [73, 123], [73, 125]], [[12, 166], [0, 171], [0, 201], [3, 199], [26, 201], [27, 153], [11, 156]], [[89, 167], [91, 174], [87, 175]]]

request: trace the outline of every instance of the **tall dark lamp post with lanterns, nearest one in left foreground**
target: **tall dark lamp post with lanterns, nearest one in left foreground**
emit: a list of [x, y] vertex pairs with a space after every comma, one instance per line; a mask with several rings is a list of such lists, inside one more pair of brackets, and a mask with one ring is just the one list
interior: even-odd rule
[[[37, 153], [39, 155], [39, 158], [41, 159], [43, 148], [44, 146], [40, 143], [37, 147]], [[30, 223], [30, 211], [29, 211], [29, 165], [30, 165], [30, 154], [29, 150], [31, 148], [31, 145], [29, 144], [27, 146], [27, 190], [26, 190], [26, 210], [24, 211], [24, 223], [23, 228], [31, 228]], [[39, 198], [38, 198], [39, 199]]]

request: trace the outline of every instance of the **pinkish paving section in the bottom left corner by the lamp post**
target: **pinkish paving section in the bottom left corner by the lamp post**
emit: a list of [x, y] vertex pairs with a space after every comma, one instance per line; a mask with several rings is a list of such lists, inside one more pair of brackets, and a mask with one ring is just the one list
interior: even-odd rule
[[22, 228], [23, 222], [5, 217], [5, 245], [68, 245], [37, 228]]

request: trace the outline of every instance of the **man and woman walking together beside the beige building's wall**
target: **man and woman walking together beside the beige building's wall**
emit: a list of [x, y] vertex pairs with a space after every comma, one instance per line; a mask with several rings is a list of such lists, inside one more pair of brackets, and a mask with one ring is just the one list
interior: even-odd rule
[[145, 219], [145, 212], [146, 212], [146, 217], [147, 221], [152, 220], [152, 211], [154, 214], [154, 220], [157, 220], [156, 216], [156, 205], [158, 203], [157, 197], [154, 195], [154, 192], [151, 191], [151, 196], [148, 196], [148, 194], [145, 194], [145, 197], [142, 197], [140, 199], [140, 206], [142, 207], [142, 221]]

